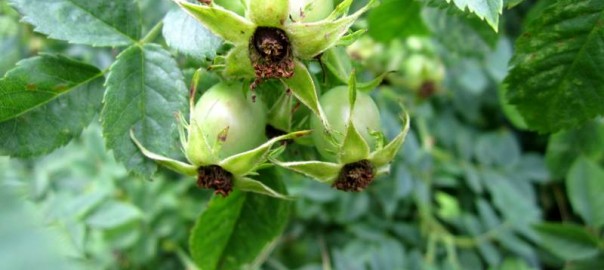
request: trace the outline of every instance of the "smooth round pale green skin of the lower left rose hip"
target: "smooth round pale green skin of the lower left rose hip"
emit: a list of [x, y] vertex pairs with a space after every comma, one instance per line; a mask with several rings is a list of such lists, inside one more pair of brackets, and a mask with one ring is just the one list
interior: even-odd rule
[[204, 92], [195, 104], [191, 130], [195, 130], [193, 125], [197, 126], [196, 130], [212, 148], [228, 127], [218, 151], [220, 158], [251, 150], [266, 141], [265, 106], [260, 99], [252, 101], [245, 89], [239, 82], [220, 82]]

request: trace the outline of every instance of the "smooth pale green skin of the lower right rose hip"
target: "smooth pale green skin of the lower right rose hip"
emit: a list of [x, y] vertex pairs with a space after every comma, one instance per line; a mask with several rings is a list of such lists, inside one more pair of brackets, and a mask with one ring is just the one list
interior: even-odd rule
[[[327, 91], [319, 99], [321, 107], [325, 112], [327, 121], [334, 138], [338, 144], [344, 139], [344, 134], [348, 125], [350, 115], [350, 105], [348, 102], [348, 86], [338, 86]], [[357, 91], [357, 99], [352, 111], [352, 123], [363, 139], [369, 144], [371, 149], [375, 148], [375, 139], [370, 131], [380, 131], [380, 112], [371, 97], [363, 92]], [[325, 159], [335, 161], [337, 158], [338, 147], [328, 140], [325, 135], [325, 128], [319, 118], [311, 118], [310, 126], [312, 129], [312, 139], [317, 150]]]

